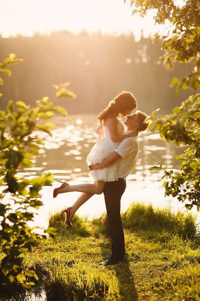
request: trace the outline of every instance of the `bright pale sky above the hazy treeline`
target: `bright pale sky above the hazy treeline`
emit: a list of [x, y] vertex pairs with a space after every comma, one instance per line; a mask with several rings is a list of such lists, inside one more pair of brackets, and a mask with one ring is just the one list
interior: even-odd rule
[[67, 29], [74, 33], [134, 33], [139, 38], [163, 27], [154, 25], [153, 12], [145, 18], [133, 15], [130, 0], [0, 0], [0, 34], [3, 37], [35, 32], [50, 34]]

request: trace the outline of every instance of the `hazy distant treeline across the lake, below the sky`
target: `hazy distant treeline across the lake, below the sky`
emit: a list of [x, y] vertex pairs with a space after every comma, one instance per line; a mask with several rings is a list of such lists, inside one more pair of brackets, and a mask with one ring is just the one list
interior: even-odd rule
[[[23, 62], [12, 66], [11, 78], [4, 78], [0, 108], [8, 99], [34, 105], [35, 100], [49, 96], [69, 113], [97, 113], [127, 90], [135, 95], [139, 109], [150, 113], [159, 107], [164, 114], [191, 94], [185, 90], [175, 95], [175, 89], [169, 88], [173, 76], [188, 73], [189, 64], [176, 65], [174, 70], [158, 64], [160, 42], [153, 45], [150, 38], [135, 42], [132, 35], [67, 31], [31, 38], [0, 37], [0, 62], [12, 52]], [[67, 81], [77, 98], [55, 100], [52, 84]]]

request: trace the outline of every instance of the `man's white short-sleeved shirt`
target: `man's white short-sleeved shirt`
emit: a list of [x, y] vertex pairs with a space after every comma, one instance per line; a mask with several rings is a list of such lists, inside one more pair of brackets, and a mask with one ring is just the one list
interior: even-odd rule
[[119, 143], [115, 149], [115, 152], [122, 157], [118, 160], [118, 178], [126, 178], [134, 168], [138, 151], [138, 137], [128, 137]]

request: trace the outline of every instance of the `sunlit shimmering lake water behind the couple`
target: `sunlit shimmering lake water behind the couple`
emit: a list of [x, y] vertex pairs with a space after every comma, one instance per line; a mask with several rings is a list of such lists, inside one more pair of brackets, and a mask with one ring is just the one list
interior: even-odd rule
[[[52, 137], [38, 132], [40, 138], [45, 140], [45, 146], [39, 156], [32, 160], [33, 167], [20, 170], [20, 178], [32, 179], [45, 172], [53, 174], [53, 186], [45, 186], [40, 191], [42, 206], [35, 215], [34, 223], [40, 227], [48, 226], [49, 214], [61, 211], [72, 205], [80, 193], [70, 192], [58, 195], [55, 199], [52, 192], [60, 184], [56, 181], [66, 181], [70, 184], [89, 183], [85, 159], [91, 147], [95, 143], [96, 116], [95, 115], [69, 115], [52, 118], [56, 127], [52, 131]], [[159, 134], [151, 132], [139, 133], [139, 156], [133, 171], [127, 177], [126, 190], [121, 199], [121, 211], [125, 211], [133, 202], [151, 203], [153, 206], [170, 206], [172, 210], [186, 211], [184, 204], [175, 198], [164, 197], [164, 189], [161, 187], [161, 171], [149, 171], [149, 167], [162, 164], [167, 168], [177, 170], [179, 161], [175, 156], [181, 154], [182, 147], [176, 147], [173, 143], [167, 143], [160, 139]], [[104, 198], [102, 195], [94, 195], [77, 214], [87, 216], [88, 219], [100, 216], [105, 212]], [[197, 214], [195, 208], [192, 212]], [[199, 213], [198, 220], [199, 220]]]

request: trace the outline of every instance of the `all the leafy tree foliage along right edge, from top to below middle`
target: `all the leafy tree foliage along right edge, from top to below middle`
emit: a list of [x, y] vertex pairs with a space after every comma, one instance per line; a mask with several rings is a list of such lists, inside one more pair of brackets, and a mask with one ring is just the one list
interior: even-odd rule
[[[162, 36], [162, 50], [164, 55], [160, 58], [165, 66], [173, 68], [173, 62], [193, 62], [193, 69], [181, 80], [173, 78], [171, 87], [177, 85], [176, 92], [181, 88], [191, 86], [200, 88], [200, 1], [184, 1], [182, 7], [176, 6], [173, 0], [131, 0], [135, 7], [134, 14], [144, 16], [148, 10], [154, 10], [155, 23], [171, 25], [167, 36]], [[153, 42], [159, 37], [154, 36]], [[200, 94], [191, 95], [175, 107], [170, 115], [155, 118], [157, 110], [147, 118], [148, 130], [158, 131], [160, 137], [167, 142], [174, 141], [176, 145], [186, 145], [184, 154], [176, 156], [181, 160], [178, 173], [164, 171], [166, 181], [163, 183], [165, 194], [178, 200], [188, 201], [187, 209], [193, 205], [200, 209]], [[154, 167], [160, 168], [162, 167]]]

